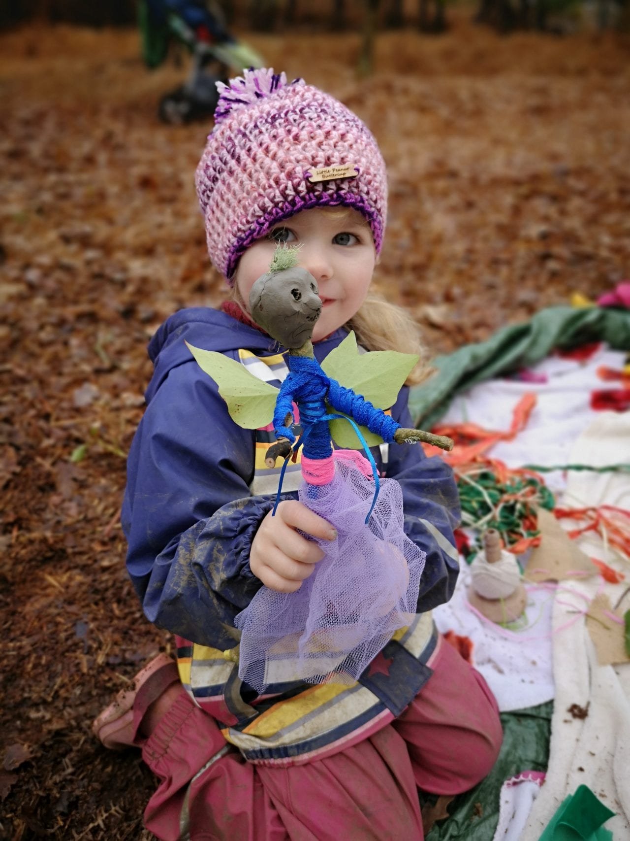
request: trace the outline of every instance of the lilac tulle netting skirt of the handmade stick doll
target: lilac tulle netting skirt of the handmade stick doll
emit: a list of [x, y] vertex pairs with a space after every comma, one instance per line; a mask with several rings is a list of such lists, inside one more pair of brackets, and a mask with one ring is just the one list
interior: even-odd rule
[[304, 482], [300, 501], [330, 522], [333, 542], [295, 593], [261, 587], [235, 619], [242, 632], [239, 677], [259, 693], [296, 680], [352, 683], [416, 613], [425, 554], [403, 530], [402, 489], [382, 479], [370, 520], [374, 479], [356, 458], [335, 455], [334, 477]]

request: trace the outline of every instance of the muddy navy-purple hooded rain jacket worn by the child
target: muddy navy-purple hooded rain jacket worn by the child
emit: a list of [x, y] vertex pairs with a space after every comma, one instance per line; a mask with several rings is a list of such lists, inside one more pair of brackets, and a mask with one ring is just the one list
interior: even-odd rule
[[[346, 335], [339, 329], [315, 344], [318, 361]], [[171, 315], [150, 341], [155, 373], [129, 452], [122, 521], [127, 569], [144, 614], [158, 627], [224, 650], [238, 643], [234, 616], [261, 586], [249, 569], [249, 547], [275, 496], [250, 495], [255, 433], [232, 421], [216, 383], [185, 341], [233, 359], [239, 348], [259, 357], [278, 348], [269, 336], [217, 309]], [[407, 394], [403, 388], [391, 414], [402, 426], [413, 426]], [[379, 449], [372, 452], [381, 468]], [[449, 600], [459, 571], [452, 472], [441, 458], [426, 458], [417, 444], [390, 444], [385, 474], [402, 485], [405, 532], [427, 553], [417, 611], [429, 611]]]

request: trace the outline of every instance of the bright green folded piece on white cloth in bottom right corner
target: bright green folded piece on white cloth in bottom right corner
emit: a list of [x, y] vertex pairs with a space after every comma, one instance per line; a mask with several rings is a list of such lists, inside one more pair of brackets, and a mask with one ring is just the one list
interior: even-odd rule
[[612, 841], [612, 832], [602, 824], [614, 814], [588, 785], [580, 785], [562, 802], [540, 841]]

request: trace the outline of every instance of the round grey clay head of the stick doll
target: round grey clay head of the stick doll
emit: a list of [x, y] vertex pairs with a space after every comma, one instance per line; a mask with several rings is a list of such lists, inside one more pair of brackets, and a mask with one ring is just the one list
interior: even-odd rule
[[290, 350], [312, 338], [322, 313], [318, 284], [304, 268], [264, 274], [249, 293], [249, 312], [256, 324]]

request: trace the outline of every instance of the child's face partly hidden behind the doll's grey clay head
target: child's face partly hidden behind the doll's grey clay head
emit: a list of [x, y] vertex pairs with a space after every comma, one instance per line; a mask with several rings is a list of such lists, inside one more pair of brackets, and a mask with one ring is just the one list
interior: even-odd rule
[[358, 210], [313, 208], [279, 222], [240, 258], [234, 283], [245, 304], [260, 275], [269, 271], [278, 242], [301, 246], [299, 265], [318, 282], [322, 299], [312, 341], [337, 330], [365, 300], [376, 253], [370, 227]]

